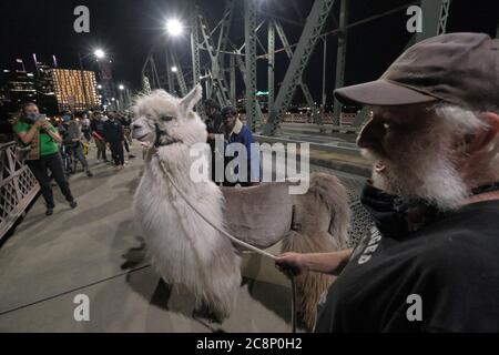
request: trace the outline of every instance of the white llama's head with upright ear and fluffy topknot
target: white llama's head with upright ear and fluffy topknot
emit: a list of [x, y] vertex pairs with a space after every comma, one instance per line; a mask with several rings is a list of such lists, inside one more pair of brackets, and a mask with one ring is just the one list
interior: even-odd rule
[[149, 145], [170, 146], [206, 142], [206, 126], [193, 111], [203, 90], [197, 84], [184, 98], [155, 90], [136, 99], [132, 138]]

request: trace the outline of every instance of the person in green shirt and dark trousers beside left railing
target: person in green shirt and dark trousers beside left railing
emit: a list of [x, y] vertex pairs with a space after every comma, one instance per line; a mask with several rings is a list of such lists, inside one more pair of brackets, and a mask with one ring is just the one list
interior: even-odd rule
[[59, 153], [58, 144], [62, 142], [62, 139], [57, 129], [40, 115], [37, 104], [30, 102], [22, 105], [20, 116], [13, 125], [13, 131], [23, 144], [38, 145], [32, 146], [32, 150], [38, 150], [39, 156], [30, 156], [26, 162], [40, 184], [41, 193], [47, 204], [45, 214], [53, 214], [53, 209], [55, 207], [49, 171], [52, 173], [65, 200], [70, 203], [71, 209], [77, 207], [77, 202], [62, 168], [61, 154]]

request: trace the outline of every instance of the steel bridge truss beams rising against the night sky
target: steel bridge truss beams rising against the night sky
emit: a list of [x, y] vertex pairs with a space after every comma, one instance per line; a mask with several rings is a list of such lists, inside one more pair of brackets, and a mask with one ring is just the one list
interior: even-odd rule
[[[324, 73], [326, 72], [326, 38], [328, 36], [337, 37], [337, 58], [335, 70], [335, 88], [344, 85], [345, 65], [347, 57], [347, 31], [363, 23], [380, 19], [385, 16], [401, 11], [411, 4], [420, 4], [424, 13], [422, 27], [424, 31], [417, 33], [411, 42], [426, 38], [438, 36], [446, 32], [447, 19], [449, 17], [449, 8], [451, 0], [420, 0], [408, 2], [397, 9], [388, 10], [384, 13], [373, 16], [370, 18], [348, 23], [348, 2], [352, 0], [339, 0], [339, 18], [334, 19], [337, 28], [333, 31], [325, 32], [328, 16], [332, 12], [334, 0], [314, 0], [308, 17], [302, 16], [296, 2], [286, 2], [291, 6], [298, 16], [298, 20], [291, 20], [278, 17], [272, 13], [264, 12], [259, 9], [256, 0], [226, 0], [222, 19], [210, 28], [206, 16], [203, 11], [194, 6], [191, 18], [191, 65], [184, 74], [181, 61], [176, 57], [173, 47], [167, 48], [165, 53], [165, 70], [167, 81], [164, 81], [163, 89], [170, 92], [175, 92], [179, 88], [180, 94], [187, 93], [189, 88], [195, 83], [204, 81], [206, 97], [215, 99], [222, 106], [232, 104], [236, 105], [237, 83], [236, 71], [238, 70], [244, 81], [244, 92], [246, 102], [246, 121], [252, 130], [256, 130], [261, 123], [263, 125], [263, 133], [274, 135], [278, 125], [283, 122], [285, 112], [288, 110], [292, 100], [295, 95], [296, 89], [299, 88], [304, 98], [310, 108], [314, 122], [322, 123], [322, 114], [317, 114], [319, 109], [325, 110], [326, 98], [323, 92], [320, 108], [318, 108], [316, 100], [314, 100], [307, 84], [303, 81], [303, 73], [312, 57], [312, 53], [317, 44], [317, 40], [324, 40]], [[283, 4], [284, 7], [284, 4]], [[236, 45], [231, 40], [231, 29], [234, 26], [235, 16], [241, 12], [244, 17], [244, 43]], [[240, 13], [240, 16], [241, 16]], [[258, 17], [265, 19], [258, 20]], [[304, 20], [305, 19], [305, 20]], [[337, 21], [338, 20], [338, 21]], [[258, 22], [259, 21], [259, 22]], [[297, 43], [291, 44], [282, 23], [288, 26], [302, 27], [303, 32]], [[258, 31], [266, 24], [266, 48], [258, 38]], [[276, 49], [276, 40], [282, 43], [282, 49]], [[258, 54], [258, 47], [263, 50], [263, 54]], [[201, 63], [201, 52], [206, 52], [208, 55], [207, 63]], [[289, 65], [279, 90], [276, 91], [275, 64], [276, 54], [284, 52], [289, 59]], [[154, 61], [155, 54], [151, 52], [144, 63], [142, 70], [143, 91], [162, 87], [160, 77], [157, 74], [156, 64]], [[257, 92], [257, 61], [265, 60], [267, 62], [267, 91], [268, 91], [268, 116], [265, 120], [259, 102], [256, 100]], [[176, 70], [171, 72], [171, 68]], [[191, 78], [186, 79], [187, 77]], [[325, 78], [323, 78], [323, 91]], [[204, 110], [201, 104], [197, 110], [204, 116]], [[339, 128], [342, 108], [339, 102], [334, 101], [333, 126]], [[354, 120], [354, 125], [359, 125], [364, 122], [366, 111], [359, 112]], [[324, 114], [324, 111], [323, 111]], [[355, 128], [354, 128], [355, 129]], [[333, 129], [335, 130], [335, 129]]]

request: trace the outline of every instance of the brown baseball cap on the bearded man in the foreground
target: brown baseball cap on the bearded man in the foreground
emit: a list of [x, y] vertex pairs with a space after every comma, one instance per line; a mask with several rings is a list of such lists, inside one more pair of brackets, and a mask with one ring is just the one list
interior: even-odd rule
[[499, 40], [485, 33], [427, 39], [406, 50], [378, 80], [338, 89], [335, 97], [345, 104], [498, 106]]

